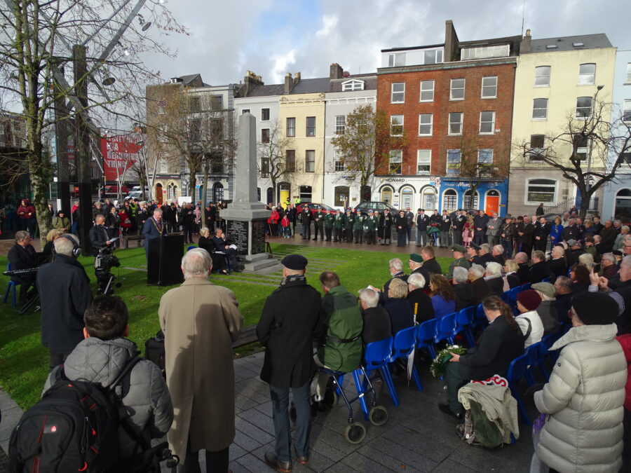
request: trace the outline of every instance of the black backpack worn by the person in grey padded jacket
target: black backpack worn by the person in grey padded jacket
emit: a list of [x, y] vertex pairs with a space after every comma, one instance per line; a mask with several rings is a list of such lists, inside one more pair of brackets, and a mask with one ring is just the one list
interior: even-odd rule
[[[139, 357], [133, 357], [107, 388], [65, 376], [28, 409], [11, 434], [9, 464], [15, 473], [123, 472], [118, 465], [119, 418], [116, 386], [128, 383]], [[128, 389], [128, 388], [127, 388]], [[123, 385], [124, 391], [124, 385]], [[124, 395], [124, 393], [123, 393]], [[133, 439], [138, 440], [133, 434]]]

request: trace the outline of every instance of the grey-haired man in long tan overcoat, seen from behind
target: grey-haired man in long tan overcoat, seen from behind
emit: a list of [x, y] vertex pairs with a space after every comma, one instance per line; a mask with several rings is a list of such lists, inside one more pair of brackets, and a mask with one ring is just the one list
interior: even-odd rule
[[206, 472], [227, 472], [234, 440], [232, 341], [243, 317], [234, 293], [208, 281], [211, 269], [205, 249], [187, 252], [184, 283], [166, 292], [158, 309], [175, 414], [168, 441], [173, 453], [184, 458], [179, 472], [199, 472], [202, 449]]

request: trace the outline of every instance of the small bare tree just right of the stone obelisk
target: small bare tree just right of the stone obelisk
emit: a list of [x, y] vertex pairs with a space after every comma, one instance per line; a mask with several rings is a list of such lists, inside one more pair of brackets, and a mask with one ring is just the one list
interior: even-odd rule
[[287, 156], [287, 146], [290, 139], [280, 128], [278, 120], [271, 123], [267, 136], [262, 136], [257, 144], [261, 164], [259, 174], [262, 178], [269, 178], [272, 183], [272, 203], [276, 203], [278, 181], [296, 170], [296, 157]]

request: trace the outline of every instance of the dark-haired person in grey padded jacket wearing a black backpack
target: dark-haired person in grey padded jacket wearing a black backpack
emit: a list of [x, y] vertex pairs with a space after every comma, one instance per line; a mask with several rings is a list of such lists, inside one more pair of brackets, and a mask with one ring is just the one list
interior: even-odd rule
[[[128, 320], [118, 296], [98, 296], [90, 304], [85, 338], [50, 372], [41, 401], [11, 436], [12, 471], [31, 471], [33, 464], [51, 472], [159, 471], [156, 455], [147, 452], [151, 439], [170, 429], [173, 406], [158, 366], [140, 359], [136, 344], [125, 338]], [[41, 432], [48, 435], [41, 438]]]

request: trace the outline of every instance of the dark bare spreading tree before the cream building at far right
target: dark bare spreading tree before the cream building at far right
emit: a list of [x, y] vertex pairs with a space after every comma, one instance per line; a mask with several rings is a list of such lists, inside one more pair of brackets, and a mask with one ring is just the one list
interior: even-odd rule
[[[602, 100], [585, 105], [570, 114], [562, 128], [539, 136], [538, 143], [517, 142], [520, 158], [513, 161], [524, 169], [538, 162], [559, 170], [578, 188], [582, 218], [599, 188], [615, 181], [620, 168], [631, 163], [631, 119]], [[612, 109], [618, 118], [612, 118]]]

